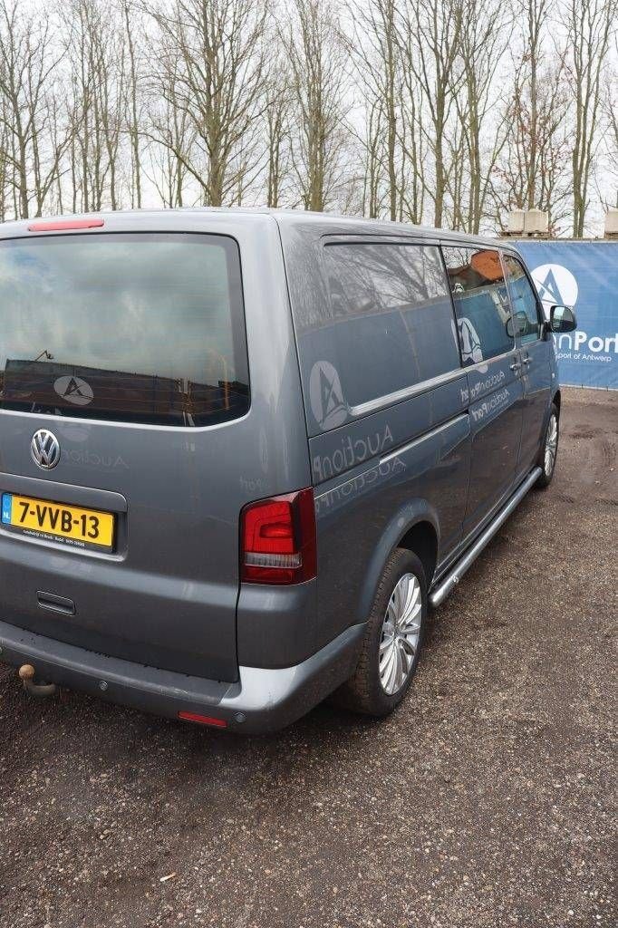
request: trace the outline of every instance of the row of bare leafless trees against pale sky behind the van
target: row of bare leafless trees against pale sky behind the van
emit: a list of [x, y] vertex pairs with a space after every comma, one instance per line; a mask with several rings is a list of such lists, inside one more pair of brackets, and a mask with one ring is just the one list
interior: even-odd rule
[[617, 25], [618, 0], [4, 0], [0, 220], [538, 207], [581, 235], [618, 204]]

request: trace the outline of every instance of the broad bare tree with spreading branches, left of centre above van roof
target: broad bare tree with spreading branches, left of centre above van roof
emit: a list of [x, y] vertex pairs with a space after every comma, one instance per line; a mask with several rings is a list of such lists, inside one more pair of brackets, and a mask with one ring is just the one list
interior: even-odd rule
[[260, 0], [174, 0], [153, 13], [153, 89], [190, 128], [170, 135], [160, 120], [155, 136], [172, 146], [206, 205], [238, 201], [262, 166], [267, 12]]

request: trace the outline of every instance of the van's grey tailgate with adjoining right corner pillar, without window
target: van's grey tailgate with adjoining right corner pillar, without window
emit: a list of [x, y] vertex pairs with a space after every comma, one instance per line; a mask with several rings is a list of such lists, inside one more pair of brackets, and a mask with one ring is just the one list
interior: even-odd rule
[[[71, 502], [66, 485], [82, 488], [93, 504], [100, 494], [104, 509], [113, 510], [105, 494], [126, 500], [113, 554], [1, 528], [4, 616], [111, 656], [235, 680], [240, 510], [310, 483], [277, 225], [264, 215], [238, 221], [225, 213], [147, 213], [128, 223], [112, 214], [105, 234], [135, 225], [140, 233], [171, 228], [238, 243], [251, 407], [241, 419], [204, 428], [0, 411], [0, 471], [19, 492], [35, 480], [35, 495], [45, 500]], [[50, 471], [30, 454], [32, 434], [43, 427], [61, 447]], [[75, 614], [44, 612], [41, 589], [71, 599]]]

